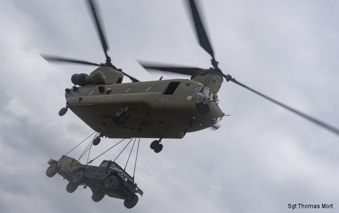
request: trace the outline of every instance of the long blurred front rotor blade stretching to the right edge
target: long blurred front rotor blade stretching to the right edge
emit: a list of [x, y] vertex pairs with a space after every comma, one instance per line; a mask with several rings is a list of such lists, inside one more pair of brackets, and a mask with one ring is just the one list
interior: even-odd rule
[[329, 124], [324, 123], [323, 121], [320, 121], [320, 120], [318, 120], [318, 119], [316, 119], [316, 118], [314, 118], [314, 117], [309, 116], [308, 114], [302, 113], [302, 112], [300, 112], [299, 110], [293, 109], [292, 107], [287, 106], [287, 105], [284, 104], [284, 103], [281, 103], [281, 102], [279, 102], [279, 101], [277, 101], [277, 100], [275, 100], [275, 99], [272, 99], [272, 98], [270, 98], [270, 97], [268, 97], [268, 96], [266, 96], [266, 95], [263, 95], [262, 93], [260, 93], [260, 92], [258, 92], [258, 91], [256, 91], [256, 90], [254, 90], [254, 89], [248, 87], [247, 85], [244, 85], [244, 84], [238, 82], [238, 81], [235, 80], [234, 78], [230, 79], [230, 81], [233, 82], [233, 83], [235, 83], [235, 84], [237, 84], [237, 85], [240, 85], [240, 86], [242, 86], [242, 87], [244, 87], [244, 88], [247, 88], [248, 90], [250, 90], [250, 91], [252, 91], [252, 92], [254, 92], [254, 93], [260, 95], [261, 97], [263, 97], [263, 98], [265, 98], [265, 99], [268, 99], [268, 100], [270, 100], [270, 101], [276, 103], [277, 105], [279, 105], [279, 106], [281, 106], [281, 107], [283, 107], [283, 108], [289, 110], [290, 112], [292, 112], [292, 113], [294, 113], [294, 114], [297, 114], [297, 115], [299, 115], [299, 116], [301, 116], [301, 117], [307, 119], [308, 121], [310, 121], [310, 122], [312, 122], [312, 123], [314, 123], [314, 124], [319, 125], [319, 126], [322, 127], [322, 128], [325, 128], [325, 129], [327, 129], [327, 130], [329, 130], [329, 131], [332, 131], [332, 132], [334, 132], [334, 133], [336, 133], [336, 134], [339, 134], [339, 128], [332, 127], [332, 126], [330, 126]]

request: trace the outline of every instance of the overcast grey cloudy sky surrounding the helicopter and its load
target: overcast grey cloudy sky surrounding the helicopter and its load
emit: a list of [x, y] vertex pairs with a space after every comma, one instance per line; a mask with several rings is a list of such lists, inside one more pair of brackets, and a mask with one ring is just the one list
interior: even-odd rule
[[[225, 73], [339, 127], [338, 1], [198, 3]], [[187, 77], [151, 75], [136, 59], [210, 66], [183, 0], [100, 0], [98, 6], [112, 63], [137, 79]], [[0, 25], [1, 212], [316, 212], [290, 210], [289, 203], [333, 203], [333, 210], [319, 212], [338, 211], [338, 135], [226, 82], [219, 106], [231, 116], [221, 128], [164, 139], [159, 154], [149, 148], [152, 139], [140, 140], [136, 182], [144, 196], [136, 207], [127, 210], [109, 197], [95, 203], [90, 189], [67, 193], [61, 176], [46, 177], [46, 162], [92, 133], [72, 112], [58, 112], [71, 75], [95, 67], [52, 65], [39, 53], [104, 62], [88, 9], [81, 0], [2, 0]], [[90, 158], [113, 142], [102, 140]], [[70, 156], [77, 158], [83, 148]], [[133, 160], [127, 169], [133, 173]]]

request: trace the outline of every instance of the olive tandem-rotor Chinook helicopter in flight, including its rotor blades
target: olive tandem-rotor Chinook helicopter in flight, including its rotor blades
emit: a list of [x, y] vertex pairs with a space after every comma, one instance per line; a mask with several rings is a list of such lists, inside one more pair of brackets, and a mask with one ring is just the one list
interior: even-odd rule
[[[309, 121], [339, 134], [334, 128], [307, 114], [295, 110], [275, 99], [238, 82], [229, 74], [224, 74], [218, 67], [212, 46], [208, 40], [194, 0], [188, 0], [194, 20], [200, 46], [212, 57], [212, 67], [201, 69], [196, 67], [162, 66], [159, 64], [140, 63], [145, 69], [170, 71], [191, 75], [190, 79], [170, 79], [140, 82], [136, 78], [117, 69], [107, 54], [108, 45], [103, 34], [95, 4], [88, 0], [92, 17], [96, 23], [106, 63], [97, 64], [65, 57], [42, 55], [50, 62], [71, 62], [99, 66], [90, 75], [81, 73], [72, 75], [72, 88], [65, 89], [66, 107], [75, 113], [92, 129], [100, 133], [93, 141], [100, 142], [100, 137], [108, 138], [159, 138], [151, 143], [151, 148], [158, 153], [164, 138], [181, 139], [187, 132], [199, 131], [215, 127], [225, 115], [218, 106], [217, 93], [223, 83], [231, 81], [268, 99], [281, 107], [302, 116]], [[123, 76], [131, 79], [131, 83], [122, 83]]]

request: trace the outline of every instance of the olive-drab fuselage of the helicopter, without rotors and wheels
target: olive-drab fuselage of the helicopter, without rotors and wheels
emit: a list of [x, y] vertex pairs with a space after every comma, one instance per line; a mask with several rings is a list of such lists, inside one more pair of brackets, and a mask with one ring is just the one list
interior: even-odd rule
[[[73, 113], [108, 138], [180, 139], [224, 115], [216, 93], [189, 79], [90, 84], [73, 87], [65, 97]], [[120, 109], [127, 111], [127, 120], [117, 117]]]

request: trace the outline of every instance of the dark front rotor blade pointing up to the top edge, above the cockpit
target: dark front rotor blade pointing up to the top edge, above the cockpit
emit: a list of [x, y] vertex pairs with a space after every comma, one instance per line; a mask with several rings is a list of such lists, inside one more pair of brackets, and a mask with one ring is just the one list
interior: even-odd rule
[[190, 8], [192, 11], [192, 17], [194, 20], [194, 25], [196, 28], [197, 36], [199, 39], [200, 46], [206, 50], [207, 53], [211, 55], [213, 59], [214, 58], [214, 52], [211, 46], [210, 41], [208, 40], [205, 28], [202, 25], [200, 15], [197, 9], [197, 5], [195, 4], [194, 0], [189, 0]]

